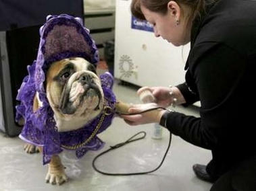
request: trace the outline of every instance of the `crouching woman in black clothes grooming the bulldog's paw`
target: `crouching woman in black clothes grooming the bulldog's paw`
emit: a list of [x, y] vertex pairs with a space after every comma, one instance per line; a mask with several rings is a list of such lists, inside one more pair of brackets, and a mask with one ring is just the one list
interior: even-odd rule
[[[133, 115], [122, 118], [130, 125], [159, 122], [185, 141], [210, 149], [211, 161], [193, 170], [214, 183], [211, 190], [256, 190], [255, 115], [250, 112], [256, 107], [251, 90], [256, 81], [255, 10], [256, 1], [249, 0], [132, 0], [132, 14], [153, 24], [156, 37], [174, 46], [190, 42], [190, 53], [185, 83], [151, 87], [155, 104], [134, 105]], [[199, 118], [159, 109], [136, 114], [197, 101]]]

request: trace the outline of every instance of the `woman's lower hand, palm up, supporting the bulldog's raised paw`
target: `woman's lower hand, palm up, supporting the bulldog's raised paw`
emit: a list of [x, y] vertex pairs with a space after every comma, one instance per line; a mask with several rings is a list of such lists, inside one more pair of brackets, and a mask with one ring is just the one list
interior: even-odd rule
[[[153, 108], [158, 108], [155, 110], [151, 110]], [[145, 112], [150, 110], [148, 112]], [[130, 125], [138, 125], [138, 124], [147, 124], [147, 123], [159, 123], [161, 116], [165, 112], [164, 109], [159, 108], [159, 105], [155, 103], [150, 104], [136, 104], [130, 106], [128, 110], [129, 114], [120, 115], [120, 118], [123, 118], [126, 123]]]

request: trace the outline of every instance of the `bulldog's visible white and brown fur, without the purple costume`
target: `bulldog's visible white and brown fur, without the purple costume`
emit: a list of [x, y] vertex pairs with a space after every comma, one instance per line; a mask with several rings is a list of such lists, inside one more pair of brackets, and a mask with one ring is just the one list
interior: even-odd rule
[[[52, 63], [46, 76], [46, 94], [58, 132], [69, 132], [82, 128], [103, 112], [105, 96], [94, 65], [83, 58], [74, 57]], [[36, 93], [33, 112], [42, 102]], [[116, 102], [117, 113], [125, 113], [128, 104]], [[43, 147], [26, 144], [27, 153], [43, 152]], [[52, 155], [46, 182], [63, 184], [68, 180], [59, 155]]]

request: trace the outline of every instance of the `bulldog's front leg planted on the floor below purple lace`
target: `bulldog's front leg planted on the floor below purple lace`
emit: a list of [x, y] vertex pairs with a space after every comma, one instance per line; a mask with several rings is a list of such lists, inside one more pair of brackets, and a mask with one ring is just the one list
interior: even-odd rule
[[45, 178], [47, 183], [61, 185], [68, 180], [65, 169], [58, 155], [53, 155], [49, 163], [48, 173]]

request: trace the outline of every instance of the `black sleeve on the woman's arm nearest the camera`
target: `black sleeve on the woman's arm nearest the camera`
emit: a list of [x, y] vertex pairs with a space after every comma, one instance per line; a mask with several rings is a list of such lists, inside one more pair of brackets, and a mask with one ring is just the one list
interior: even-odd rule
[[161, 121], [166, 120], [165, 127], [174, 135], [199, 147], [213, 149], [230, 139], [230, 130], [237, 126], [236, 89], [246, 64], [242, 55], [220, 44], [202, 55], [188, 71], [199, 91], [201, 117], [170, 112], [163, 115], [165, 119]]

